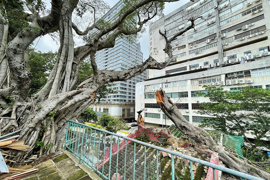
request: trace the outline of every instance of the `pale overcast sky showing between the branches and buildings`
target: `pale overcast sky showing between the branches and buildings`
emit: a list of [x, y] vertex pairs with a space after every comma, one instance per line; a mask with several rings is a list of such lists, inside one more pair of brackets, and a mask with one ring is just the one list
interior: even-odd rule
[[[47, 0], [46, 0], [47, 1]], [[110, 7], [113, 7], [119, 0], [105, 0], [108, 2]], [[181, 0], [178, 2], [173, 3], [166, 3], [165, 9], [164, 9], [164, 15], [167, 15], [168, 13], [176, 10], [183, 4], [187, 3], [189, 0]], [[51, 5], [48, 3], [47, 8], [50, 8]], [[34, 46], [36, 46], [36, 49], [46, 52], [46, 51], [57, 51], [58, 45], [53, 41], [50, 35], [42, 36], [39, 40], [39, 37], [34, 41]], [[139, 39], [139, 42], [141, 43], [141, 51], [143, 51], [143, 58], [147, 59], [149, 56], [149, 28], [146, 26], [146, 32], [143, 33], [142, 37]]]

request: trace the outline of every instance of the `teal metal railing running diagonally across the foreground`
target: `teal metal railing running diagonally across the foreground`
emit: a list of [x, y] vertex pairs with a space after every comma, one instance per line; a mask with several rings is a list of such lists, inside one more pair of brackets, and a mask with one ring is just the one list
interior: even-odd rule
[[107, 180], [159, 180], [162, 170], [162, 152], [171, 156], [171, 179], [177, 178], [175, 159], [183, 158], [190, 162], [190, 179], [193, 180], [194, 162], [213, 168], [213, 180], [218, 170], [242, 179], [262, 180], [223, 166], [203, 161], [179, 152], [141, 142], [129, 137], [98, 129], [86, 124], [68, 121], [65, 149], [68, 149], [85, 162], [102, 178]]

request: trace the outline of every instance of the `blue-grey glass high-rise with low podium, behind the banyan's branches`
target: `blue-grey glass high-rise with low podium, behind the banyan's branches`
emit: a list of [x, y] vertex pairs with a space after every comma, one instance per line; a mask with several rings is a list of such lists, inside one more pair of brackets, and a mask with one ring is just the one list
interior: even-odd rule
[[[117, 18], [121, 5], [122, 0], [116, 3], [102, 18], [107, 22], [113, 22]], [[121, 71], [141, 64], [143, 53], [140, 43], [135, 38], [133, 41], [117, 38], [113, 48], [98, 51], [95, 58], [100, 70]], [[114, 117], [132, 122], [135, 116], [135, 84], [145, 79], [146, 73], [143, 72], [126, 81], [114, 82], [113, 90], [118, 90], [118, 93], [109, 94], [107, 98], [92, 104], [90, 107], [96, 111], [98, 116], [109, 112]]]

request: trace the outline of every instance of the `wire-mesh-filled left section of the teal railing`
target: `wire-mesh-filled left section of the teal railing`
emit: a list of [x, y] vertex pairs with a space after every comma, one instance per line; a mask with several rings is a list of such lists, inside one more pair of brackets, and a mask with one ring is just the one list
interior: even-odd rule
[[157, 149], [71, 122], [65, 147], [104, 179], [160, 179]]

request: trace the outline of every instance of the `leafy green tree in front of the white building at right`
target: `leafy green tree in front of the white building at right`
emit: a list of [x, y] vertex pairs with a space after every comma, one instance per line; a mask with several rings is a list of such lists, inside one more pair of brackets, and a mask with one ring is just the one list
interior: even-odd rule
[[[255, 137], [253, 149], [263, 145], [263, 138], [270, 140], [270, 89], [243, 87], [242, 91], [225, 91], [222, 87], [203, 86], [207, 97], [212, 102], [199, 103], [204, 109], [199, 114], [211, 115], [215, 118], [205, 119], [201, 127], [211, 127], [227, 134], [244, 136], [250, 133]], [[245, 113], [238, 111], [247, 110]], [[269, 146], [269, 145], [268, 145]]]

